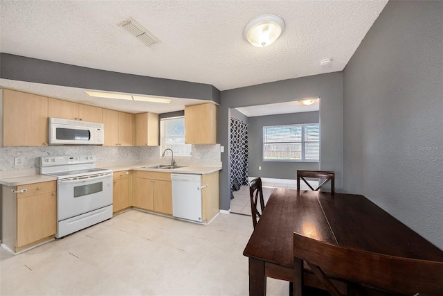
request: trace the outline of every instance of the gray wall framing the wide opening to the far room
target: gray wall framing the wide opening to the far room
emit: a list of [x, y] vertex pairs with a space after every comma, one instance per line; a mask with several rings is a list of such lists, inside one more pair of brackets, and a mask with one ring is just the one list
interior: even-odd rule
[[320, 168], [336, 172], [336, 191], [342, 188], [343, 168], [343, 76], [341, 72], [264, 83], [221, 92], [217, 143], [221, 153], [220, 208], [230, 209], [229, 119], [230, 108], [320, 97]]

